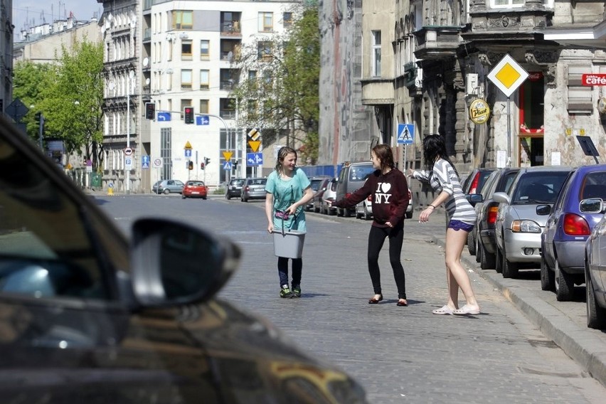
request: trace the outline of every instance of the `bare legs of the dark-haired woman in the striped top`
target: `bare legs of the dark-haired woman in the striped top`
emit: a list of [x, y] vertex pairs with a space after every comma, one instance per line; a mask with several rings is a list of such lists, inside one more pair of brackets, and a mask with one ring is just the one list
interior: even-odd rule
[[461, 265], [461, 254], [464, 245], [467, 244], [467, 232], [464, 230], [454, 230], [449, 228], [446, 230], [446, 269], [448, 276], [448, 304], [452, 302], [452, 307], [457, 307], [458, 289], [461, 288], [465, 296], [466, 303], [471, 307], [479, 307], [472, 282]]

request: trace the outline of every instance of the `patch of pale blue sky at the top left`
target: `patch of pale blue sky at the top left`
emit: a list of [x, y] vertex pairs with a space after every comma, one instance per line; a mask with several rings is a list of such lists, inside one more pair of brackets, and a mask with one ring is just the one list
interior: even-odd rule
[[89, 21], [95, 11], [97, 18], [101, 16], [103, 4], [97, 3], [97, 0], [13, 0], [15, 36], [21, 36], [26, 23], [29, 26], [52, 23], [53, 20], [69, 17], [70, 11], [77, 20]]

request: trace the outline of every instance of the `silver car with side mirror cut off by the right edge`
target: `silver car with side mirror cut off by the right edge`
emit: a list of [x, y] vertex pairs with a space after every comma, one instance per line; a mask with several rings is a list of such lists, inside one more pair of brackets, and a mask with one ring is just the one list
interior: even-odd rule
[[606, 216], [603, 198], [585, 199], [580, 203], [584, 213], [601, 214], [602, 219], [585, 242], [585, 294], [587, 326], [606, 329]]

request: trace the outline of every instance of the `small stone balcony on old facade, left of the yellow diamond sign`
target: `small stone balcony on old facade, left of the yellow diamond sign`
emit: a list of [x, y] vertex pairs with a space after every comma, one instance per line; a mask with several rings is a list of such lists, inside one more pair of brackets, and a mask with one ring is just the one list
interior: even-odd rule
[[415, 57], [424, 60], [442, 60], [457, 56], [462, 43], [459, 26], [424, 26], [414, 35], [417, 41]]

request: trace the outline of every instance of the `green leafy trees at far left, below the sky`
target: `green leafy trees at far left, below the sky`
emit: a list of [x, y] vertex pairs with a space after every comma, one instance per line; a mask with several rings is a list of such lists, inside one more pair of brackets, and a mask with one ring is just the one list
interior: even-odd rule
[[[36, 112], [46, 118], [45, 137], [63, 139], [68, 154], [85, 154], [95, 167], [100, 164], [103, 139], [102, 43], [75, 43], [63, 47], [53, 64], [18, 63], [14, 97], [35, 105], [26, 119], [28, 135], [38, 138]], [[93, 158], [93, 154], [97, 157]]]

